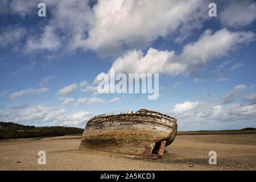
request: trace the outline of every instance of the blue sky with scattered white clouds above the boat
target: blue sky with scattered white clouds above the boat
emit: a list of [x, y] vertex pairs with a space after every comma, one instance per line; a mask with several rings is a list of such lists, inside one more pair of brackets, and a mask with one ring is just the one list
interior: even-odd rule
[[[144, 108], [177, 118], [179, 131], [256, 127], [255, 10], [250, 0], [3, 0], [0, 121], [83, 128]], [[97, 93], [110, 68], [159, 73], [158, 99]]]

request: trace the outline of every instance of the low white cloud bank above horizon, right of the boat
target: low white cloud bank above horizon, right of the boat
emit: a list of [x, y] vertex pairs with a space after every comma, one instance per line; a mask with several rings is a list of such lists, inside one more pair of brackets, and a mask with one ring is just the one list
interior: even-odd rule
[[176, 104], [167, 112], [179, 121], [179, 126], [195, 123], [252, 121], [256, 117], [256, 105], [233, 104], [223, 107], [218, 103], [189, 102]]

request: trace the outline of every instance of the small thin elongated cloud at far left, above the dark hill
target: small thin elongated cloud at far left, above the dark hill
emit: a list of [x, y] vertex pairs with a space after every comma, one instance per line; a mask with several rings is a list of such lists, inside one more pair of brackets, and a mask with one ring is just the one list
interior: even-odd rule
[[11, 93], [10, 94], [10, 97], [9, 99], [10, 100], [13, 100], [15, 98], [21, 98], [21, 97], [24, 97], [24, 96], [34, 96], [36, 94], [42, 94], [44, 92], [47, 92], [49, 91], [48, 88], [40, 88], [40, 89], [27, 89], [27, 90], [20, 90], [19, 92], [14, 92], [14, 93]]

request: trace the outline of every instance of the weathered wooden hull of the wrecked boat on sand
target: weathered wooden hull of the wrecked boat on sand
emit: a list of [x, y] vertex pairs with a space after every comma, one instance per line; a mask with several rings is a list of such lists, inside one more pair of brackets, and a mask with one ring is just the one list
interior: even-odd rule
[[87, 122], [80, 149], [159, 159], [176, 134], [177, 119], [155, 111], [101, 114]]

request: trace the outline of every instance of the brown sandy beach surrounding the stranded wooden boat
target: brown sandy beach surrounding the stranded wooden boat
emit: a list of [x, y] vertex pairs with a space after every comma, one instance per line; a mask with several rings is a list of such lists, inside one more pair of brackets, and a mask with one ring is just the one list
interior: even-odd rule
[[[78, 137], [0, 142], [0, 170], [255, 170], [256, 134], [177, 135], [160, 160], [79, 150]], [[46, 164], [38, 164], [38, 152]], [[217, 152], [210, 165], [209, 151]]]

